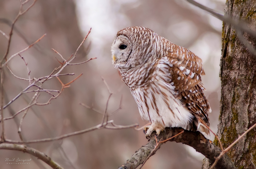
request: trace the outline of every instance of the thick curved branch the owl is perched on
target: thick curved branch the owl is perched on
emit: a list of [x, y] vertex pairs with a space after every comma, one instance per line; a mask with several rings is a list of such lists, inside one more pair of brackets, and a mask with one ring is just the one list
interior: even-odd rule
[[[171, 142], [183, 143], [188, 146], [195, 148], [197, 152], [202, 153], [206, 156], [211, 163], [215, 161], [215, 157], [218, 157], [222, 152], [221, 149], [215, 144], [210, 143], [202, 133], [199, 131], [188, 131], [184, 130], [181, 127], [172, 127], [166, 128], [166, 132], [161, 132], [158, 136], [159, 140], [166, 140], [171, 138], [172, 136], [179, 134], [180, 132], [184, 131], [184, 133], [170, 139]], [[149, 143], [145, 146], [142, 146], [138, 151], [135, 152], [131, 156], [131, 159], [127, 160], [127, 162], [118, 167], [118, 169], [135, 169], [139, 165], [143, 164], [143, 162], [147, 159], [147, 157], [154, 151], [156, 140], [155, 140], [155, 131], [151, 134]], [[160, 148], [160, 146], [155, 149], [155, 152]], [[154, 154], [153, 154], [154, 155]], [[236, 167], [231, 162], [231, 159], [225, 154], [223, 157], [218, 161], [217, 165], [215, 166], [216, 169], [236, 169]]]

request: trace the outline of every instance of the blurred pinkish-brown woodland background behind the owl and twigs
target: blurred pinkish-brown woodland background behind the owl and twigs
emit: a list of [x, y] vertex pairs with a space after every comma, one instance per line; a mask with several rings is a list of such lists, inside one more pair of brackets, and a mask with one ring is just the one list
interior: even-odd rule
[[[197, 0], [199, 3], [224, 13], [225, 0]], [[32, 0], [31, 2], [32, 3]], [[27, 4], [24, 9], [28, 7]], [[19, 0], [0, 0], [0, 30], [9, 33], [9, 24], [19, 12]], [[86, 129], [101, 123], [102, 116], [80, 105], [93, 105], [104, 110], [109, 93], [101, 76], [110, 90], [108, 112], [114, 112], [122, 96], [123, 108], [110, 117], [118, 125], [138, 123], [143, 126], [137, 105], [129, 88], [123, 83], [111, 64], [110, 46], [117, 31], [128, 26], [145, 26], [164, 36], [171, 42], [190, 49], [203, 60], [206, 75], [202, 81], [207, 89], [205, 94], [210, 102], [212, 113], [210, 125], [217, 131], [220, 101], [219, 62], [221, 56], [222, 22], [189, 4], [185, 0], [37, 0], [36, 4], [16, 22], [8, 57], [26, 48], [43, 34], [47, 34], [37, 45], [24, 52], [31, 77], [49, 75], [60, 64], [61, 58], [52, 51], [56, 49], [66, 59], [74, 53], [82, 39], [92, 27], [88, 39], [78, 52], [74, 62], [97, 57], [82, 65], [72, 65], [63, 73], [83, 73], [77, 81], [66, 88], [56, 100], [46, 106], [29, 109], [22, 125], [25, 140], [59, 136]], [[0, 56], [7, 48], [7, 39], [0, 34]], [[16, 75], [28, 78], [27, 67], [18, 56], [8, 64]], [[5, 104], [28, 86], [4, 70]], [[75, 76], [61, 77], [68, 83]], [[47, 81], [44, 88], [60, 90], [56, 78]], [[35, 88], [34, 88], [35, 89]], [[24, 94], [4, 110], [4, 117], [26, 107], [33, 94]], [[40, 102], [49, 99], [41, 93]], [[5, 121], [8, 139], [20, 140], [17, 134], [20, 118]], [[211, 135], [212, 140], [214, 135]], [[65, 169], [113, 169], [130, 159], [131, 155], [147, 143], [143, 131], [134, 129], [96, 130], [72, 136], [63, 140], [34, 143], [29, 146], [46, 153]], [[32, 159], [28, 165], [6, 164], [5, 159]], [[156, 169], [198, 169], [204, 156], [181, 143], [167, 142], [150, 157], [143, 168]], [[1, 169], [49, 169], [44, 162], [29, 154], [0, 150]]]

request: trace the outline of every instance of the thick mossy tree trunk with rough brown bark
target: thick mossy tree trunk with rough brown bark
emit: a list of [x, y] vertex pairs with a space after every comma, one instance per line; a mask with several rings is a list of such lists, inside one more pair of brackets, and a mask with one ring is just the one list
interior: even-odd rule
[[[245, 20], [255, 30], [256, 3], [254, 0], [227, 0], [225, 14], [234, 20]], [[242, 33], [255, 48], [255, 39]], [[223, 23], [222, 81], [218, 136], [224, 148], [256, 123], [256, 56], [237, 38], [237, 30]], [[245, 135], [227, 155], [239, 169], [256, 169], [256, 129]], [[217, 140], [214, 141], [218, 144]], [[219, 146], [219, 145], [218, 145]]]

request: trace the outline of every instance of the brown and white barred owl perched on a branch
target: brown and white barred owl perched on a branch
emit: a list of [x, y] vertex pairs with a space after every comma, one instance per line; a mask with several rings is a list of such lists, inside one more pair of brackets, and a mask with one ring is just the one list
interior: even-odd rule
[[146, 136], [165, 127], [201, 129], [208, 138], [210, 104], [203, 93], [202, 60], [146, 27], [118, 31], [111, 46], [113, 66], [130, 88], [142, 118], [151, 122]]

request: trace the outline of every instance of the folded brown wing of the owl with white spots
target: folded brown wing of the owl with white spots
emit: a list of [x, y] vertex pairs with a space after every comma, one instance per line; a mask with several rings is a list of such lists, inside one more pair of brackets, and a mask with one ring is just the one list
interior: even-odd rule
[[[175, 86], [176, 98], [180, 99], [195, 117], [200, 117], [210, 126], [208, 112], [211, 112], [211, 107], [203, 93], [205, 88], [200, 76], [205, 75], [202, 60], [188, 49], [175, 44], [163, 60], [170, 67], [172, 75], [170, 83]], [[197, 123], [200, 124], [200, 121]], [[207, 128], [206, 130], [208, 131]], [[204, 132], [209, 134], [207, 131]]]

